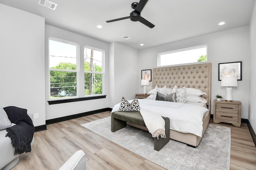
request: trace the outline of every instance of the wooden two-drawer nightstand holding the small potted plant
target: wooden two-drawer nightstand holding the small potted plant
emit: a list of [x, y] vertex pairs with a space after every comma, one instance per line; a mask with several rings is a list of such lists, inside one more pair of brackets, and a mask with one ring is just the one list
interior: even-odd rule
[[213, 104], [213, 122], [232, 123], [234, 126], [241, 125], [241, 107], [240, 101], [227, 102], [225, 100], [214, 100]]

